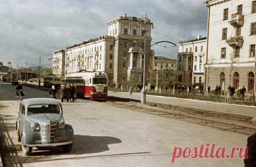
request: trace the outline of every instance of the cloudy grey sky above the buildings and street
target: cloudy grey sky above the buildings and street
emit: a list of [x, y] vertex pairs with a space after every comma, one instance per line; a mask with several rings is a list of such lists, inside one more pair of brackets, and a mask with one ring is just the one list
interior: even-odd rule
[[[206, 35], [206, 0], [0, 0], [0, 62], [43, 64], [54, 51], [107, 35], [109, 19], [127, 14], [154, 23], [152, 41], [178, 43]], [[177, 47], [154, 46], [156, 56], [175, 57]]]

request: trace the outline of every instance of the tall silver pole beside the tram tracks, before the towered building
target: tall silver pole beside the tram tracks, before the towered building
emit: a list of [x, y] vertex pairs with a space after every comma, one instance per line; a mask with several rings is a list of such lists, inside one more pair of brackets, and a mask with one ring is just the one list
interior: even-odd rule
[[143, 66], [143, 88], [141, 90], [141, 103], [146, 103], [146, 89], [145, 89], [145, 64], [146, 64], [146, 35], [147, 35], [147, 27], [146, 27], [147, 13], [145, 13], [144, 17], [144, 66]]

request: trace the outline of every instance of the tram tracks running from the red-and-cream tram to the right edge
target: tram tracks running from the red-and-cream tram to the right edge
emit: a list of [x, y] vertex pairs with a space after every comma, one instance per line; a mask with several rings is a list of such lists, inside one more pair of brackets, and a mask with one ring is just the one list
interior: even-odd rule
[[183, 106], [166, 105], [162, 103], [150, 102], [147, 103], [147, 105], [142, 105], [140, 103], [135, 103], [139, 102], [138, 100], [113, 96], [109, 96], [106, 101], [111, 102], [115, 106], [133, 108], [133, 110], [136, 111], [189, 121], [199, 125], [218, 128], [224, 131], [243, 133], [246, 135], [256, 133], [256, 127], [251, 122], [251, 119], [253, 118], [251, 116], [214, 112]]

